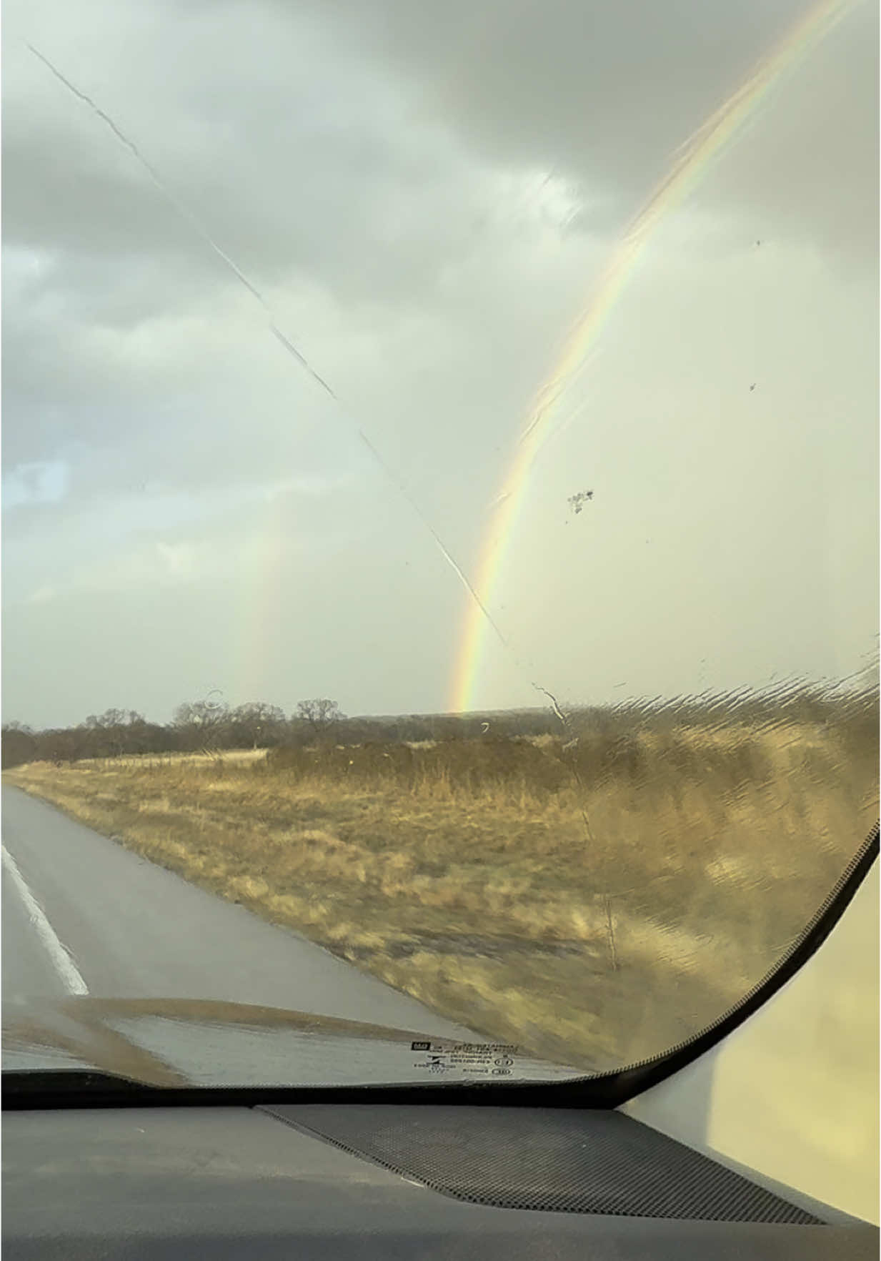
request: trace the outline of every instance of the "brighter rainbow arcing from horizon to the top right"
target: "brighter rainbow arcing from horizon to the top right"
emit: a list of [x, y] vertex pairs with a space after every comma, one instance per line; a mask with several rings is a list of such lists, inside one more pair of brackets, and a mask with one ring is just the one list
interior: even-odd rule
[[553, 371], [538, 390], [513, 459], [493, 499], [490, 523], [480, 543], [474, 581], [450, 685], [449, 709], [474, 707], [475, 682], [490, 634], [499, 636], [488, 609], [504, 572], [515, 525], [526, 501], [529, 469], [547, 439], [563, 388], [584, 368], [609, 314], [624, 291], [645, 245], [664, 216], [679, 206], [703, 179], [710, 165], [731, 144], [746, 120], [786, 71], [855, 6], [856, 0], [821, 0], [778, 47], [765, 55], [749, 78], [674, 154], [671, 170], [649, 195], [613, 250], [584, 311], [568, 334]]

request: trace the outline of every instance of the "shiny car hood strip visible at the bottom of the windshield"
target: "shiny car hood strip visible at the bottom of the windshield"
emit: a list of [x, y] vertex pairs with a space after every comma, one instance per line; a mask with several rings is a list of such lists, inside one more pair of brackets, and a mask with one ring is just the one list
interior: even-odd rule
[[[68, 997], [4, 1004], [3, 1068], [92, 1069], [154, 1087], [389, 1086], [584, 1077], [475, 1035], [456, 1042], [238, 1002]], [[9, 1079], [9, 1078], [6, 1078]]]

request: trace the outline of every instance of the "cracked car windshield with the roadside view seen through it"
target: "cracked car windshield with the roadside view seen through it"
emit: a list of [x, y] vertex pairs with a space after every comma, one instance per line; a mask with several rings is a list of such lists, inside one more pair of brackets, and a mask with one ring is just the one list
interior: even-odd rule
[[6, 1067], [663, 1055], [878, 811], [870, 0], [9, 0]]

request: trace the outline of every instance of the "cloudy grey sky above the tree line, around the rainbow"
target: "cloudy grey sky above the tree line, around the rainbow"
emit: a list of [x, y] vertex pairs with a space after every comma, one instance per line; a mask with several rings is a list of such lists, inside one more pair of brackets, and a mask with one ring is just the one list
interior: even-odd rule
[[858, 671], [871, 0], [654, 223], [500, 538], [495, 503], [628, 226], [812, 11], [8, 0], [4, 720]]

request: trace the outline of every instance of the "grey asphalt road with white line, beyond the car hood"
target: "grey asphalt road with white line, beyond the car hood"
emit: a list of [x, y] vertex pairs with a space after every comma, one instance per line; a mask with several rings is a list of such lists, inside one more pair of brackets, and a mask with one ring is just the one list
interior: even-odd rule
[[3, 1001], [214, 999], [474, 1037], [294, 932], [3, 789]]

